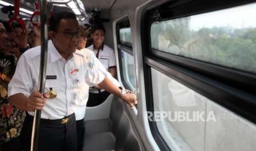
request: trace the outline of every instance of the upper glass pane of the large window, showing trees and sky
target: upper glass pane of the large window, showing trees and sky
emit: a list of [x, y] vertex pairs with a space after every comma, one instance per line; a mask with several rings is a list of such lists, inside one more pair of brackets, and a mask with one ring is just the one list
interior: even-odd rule
[[255, 14], [253, 3], [154, 22], [151, 48], [256, 73]]

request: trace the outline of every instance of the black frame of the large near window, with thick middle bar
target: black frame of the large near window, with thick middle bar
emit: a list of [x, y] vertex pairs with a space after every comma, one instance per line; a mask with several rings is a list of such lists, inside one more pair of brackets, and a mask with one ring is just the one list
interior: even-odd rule
[[[256, 74], [151, 49], [150, 39], [150, 27], [154, 21], [177, 19], [252, 2], [255, 1], [165, 1], [151, 4], [144, 10], [140, 28], [147, 111], [154, 112], [151, 81], [151, 68], [154, 68], [256, 124], [256, 111], [253, 109], [256, 108], [256, 95], [253, 94], [256, 88]], [[149, 121], [149, 125], [160, 149], [171, 150], [160, 135], [155, 121]]]

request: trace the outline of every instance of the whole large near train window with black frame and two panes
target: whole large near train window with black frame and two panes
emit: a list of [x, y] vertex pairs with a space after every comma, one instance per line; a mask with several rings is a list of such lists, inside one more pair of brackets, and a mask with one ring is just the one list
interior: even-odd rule
[[[143, 12], [146, 106], [150, 130], [161, 150], [232, 150], [239, 143], [232, 138], [244, 131], [234, 129], [237, 133], [221, 140], [211, 140], [209, 133], [229, 130], [236, 121], [241, 130], [252, 124], [249, 131], [256, 132], [252, 66], [256, 3], [252, 2], [156, 2]], [[236, 119], [220, 120], [219, 111]], [[197, 136], [191, 131], [195, 129]], [[255, 138], [246, 137], [244, 142], [252, 148], [250, 140]], [[225, 140], [232, 140], [228, 147], [211, 146]]]

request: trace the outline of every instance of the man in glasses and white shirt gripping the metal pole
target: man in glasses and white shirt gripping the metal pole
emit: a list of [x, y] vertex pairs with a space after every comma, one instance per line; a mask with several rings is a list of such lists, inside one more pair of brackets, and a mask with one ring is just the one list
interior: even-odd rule
[[[19, 59], [9, 83], [9, 102], [28, 111], [23, 126], [23, 144], [30, 150], [32, 119], [35, 109], [41, 109], [39, 150], [77, 150], [77, 131], [74, 112], [86, 99], [86, 85], [101, 88], [120, 96], [130, 107], [136, 103], [133, 94], [125, 94], [115, 86], [97, 65], [96, 57], [77, 50], [78, 21], [73, 13], [57, 12], [50, 18], [51, 40], [45, 94], [37, 91], [40, 47], [26, 51]], [[51, 95], [55, 94], [55, 95]]]

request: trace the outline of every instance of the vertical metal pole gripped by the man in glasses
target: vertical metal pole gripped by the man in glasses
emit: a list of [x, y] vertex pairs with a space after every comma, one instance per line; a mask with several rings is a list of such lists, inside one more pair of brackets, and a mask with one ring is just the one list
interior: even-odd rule
[[[45, 89], [47, 50], [48, 50], [48, 28], [47, 28], [47, 0], [39, 0], [40, 5], [40, 23], [41, 23], [41, 60], [39, 73], [39, 92], [43, 94]], [[38, 150], [39, 125], [41, 110], [36, 110], [32, 125], [31, 147], [30, 151]]]

